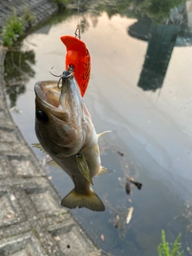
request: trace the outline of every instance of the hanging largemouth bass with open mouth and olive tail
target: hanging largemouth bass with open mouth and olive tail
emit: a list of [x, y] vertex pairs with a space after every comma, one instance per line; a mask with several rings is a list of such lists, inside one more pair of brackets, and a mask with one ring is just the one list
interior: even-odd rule
[[64, 170], [74, 182], [62, 206], [103, 211], [105, 206], [91, 185], [95, 176], [110, 172], [101, 166], [98, 147], [98, 138], [110, 131], [96, 133], [73, 70], [63, 72], [60, 84], [40, 81], [34, 86], [35, 133], [39, 141], [34, 147], [46, 151], [52, 158], [49, 164]]

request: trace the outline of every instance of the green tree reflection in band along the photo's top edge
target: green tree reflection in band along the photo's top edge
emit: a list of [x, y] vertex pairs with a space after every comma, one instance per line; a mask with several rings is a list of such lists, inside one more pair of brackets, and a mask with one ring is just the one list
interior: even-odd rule
[[[72, 2], [76, 4], [76, 1]], [[93, 10], [98, 16], [105, 11], [109, 18], [115, 14], [141, 18], [146, 14], [153, 22], [159, 23], [170, 17], [170, 10], [185, 2], [186, 0], [85, 0], [80, 2], [80, 10]]]

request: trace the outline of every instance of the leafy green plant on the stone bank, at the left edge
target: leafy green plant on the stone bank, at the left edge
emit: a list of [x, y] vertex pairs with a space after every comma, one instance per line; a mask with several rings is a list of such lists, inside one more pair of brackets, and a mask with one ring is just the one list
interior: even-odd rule
[[4, 46], [12, 46], [17, 38], [23, 34], [25, 26], [15, 10], [13, 13], [6, 19], [6, 26], [2, 28], [2, 44]]

